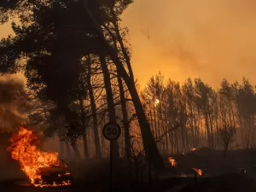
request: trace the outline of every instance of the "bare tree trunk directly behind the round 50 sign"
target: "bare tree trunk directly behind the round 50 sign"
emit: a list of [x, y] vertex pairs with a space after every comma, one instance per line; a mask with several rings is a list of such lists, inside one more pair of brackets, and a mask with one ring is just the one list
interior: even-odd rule
[[[113, 103], [113, 92], [112, 92], [110, 74], [108, 71], [108, 66], [106, 63], [105, 56], [100, 55], [100, 61], [102, 65], [102, 73], [104, 76], [104, 84], [105, 84], [106, 95], [107, 95], [109, 121], [115, 123], [116, 115], [115, 115], [115, 108]], [[117, 140], [113, 141], [113, 158], [115, 159], [119, 158], [119, 148], [118, 148]]]

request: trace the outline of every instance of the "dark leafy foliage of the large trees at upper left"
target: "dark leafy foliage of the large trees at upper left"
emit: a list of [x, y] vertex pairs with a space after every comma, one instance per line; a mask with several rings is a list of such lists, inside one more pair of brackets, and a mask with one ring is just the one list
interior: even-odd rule
[[[57, 131], [56, 126], [50, 124], [63, 115], [67, 121], [67, 136], [77, 139], [81, 135], [79, 111], [71, 108], [79, 96], [83, 99], [87, 96], [83, 59], [86, 55], [106, 52], [93, 21], [84, 11], [84, 2], [25, 0], [0, 3], [2, 23], [14, 15], [20, 20], [19, 25], [12, 24], [15, 36], [0, 42], [0, 71], [4, 74], [21, 70], [26, 76], [27, 87], [40, 100], [41, 106], [42, 102], [53, 102], [46, 116], [37, 112], [30, 114], [33, 123], [39, 119], [48, 122], [49, 131], [45, 132], [49, 136]], [[87, 2], [102, 26], [108, 22], [118, 24], [119, 15], [132, 3], [131, 0]], [[59, 117], [53, 115], [53, 111]]]

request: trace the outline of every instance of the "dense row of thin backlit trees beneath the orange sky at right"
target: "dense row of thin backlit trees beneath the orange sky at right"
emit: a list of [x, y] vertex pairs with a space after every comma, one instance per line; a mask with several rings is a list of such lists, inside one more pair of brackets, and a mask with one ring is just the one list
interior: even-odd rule
[[256, 91], [248, 79], [223, 79], [214, 90], [201, 79], [179, 84], [158, 73], [142, 97], [154, 137], [162, 137], [162, 153], [255, 147]]

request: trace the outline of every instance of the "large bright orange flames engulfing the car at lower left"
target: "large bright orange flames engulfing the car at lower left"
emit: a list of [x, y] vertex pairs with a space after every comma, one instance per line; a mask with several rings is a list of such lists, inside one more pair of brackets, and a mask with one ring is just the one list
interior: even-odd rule
[[[48, 173], [42, 173], [44, 170], [51, 169], [51, 167], [65, 168], [67, 166], [59, 160], [57, 153], [43, 152], [37, 148], [36, 144], [39, 143], [39, 140], [33, 131], [20, 127], [19, 133], [11, 137], [9, 142], [11, 146], [8, 151], [12, 159], [19, 162], [21, 171], [25, 172], [32, 185], [35, 187], [59, 187], [71, 184], [70, 180], [53, 181], [52, 183], [44, 181], [42, 178], [44, 175], [49, 177]], [[65, 174], [70, 175], [70, 172]]]

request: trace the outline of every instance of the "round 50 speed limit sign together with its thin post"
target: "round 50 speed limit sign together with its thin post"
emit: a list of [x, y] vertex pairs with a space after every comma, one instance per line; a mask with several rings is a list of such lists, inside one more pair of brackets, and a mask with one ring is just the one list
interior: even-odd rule
[[117, 123], [109, 122], [108, 124], [103, 126], [102, 129], [103, 136], [110, 142], [109, 148], [109, 189], [112, 192], [112, 171], [113, 171], [113, 141], [117, 140], [121, 135], [121, 128]]

